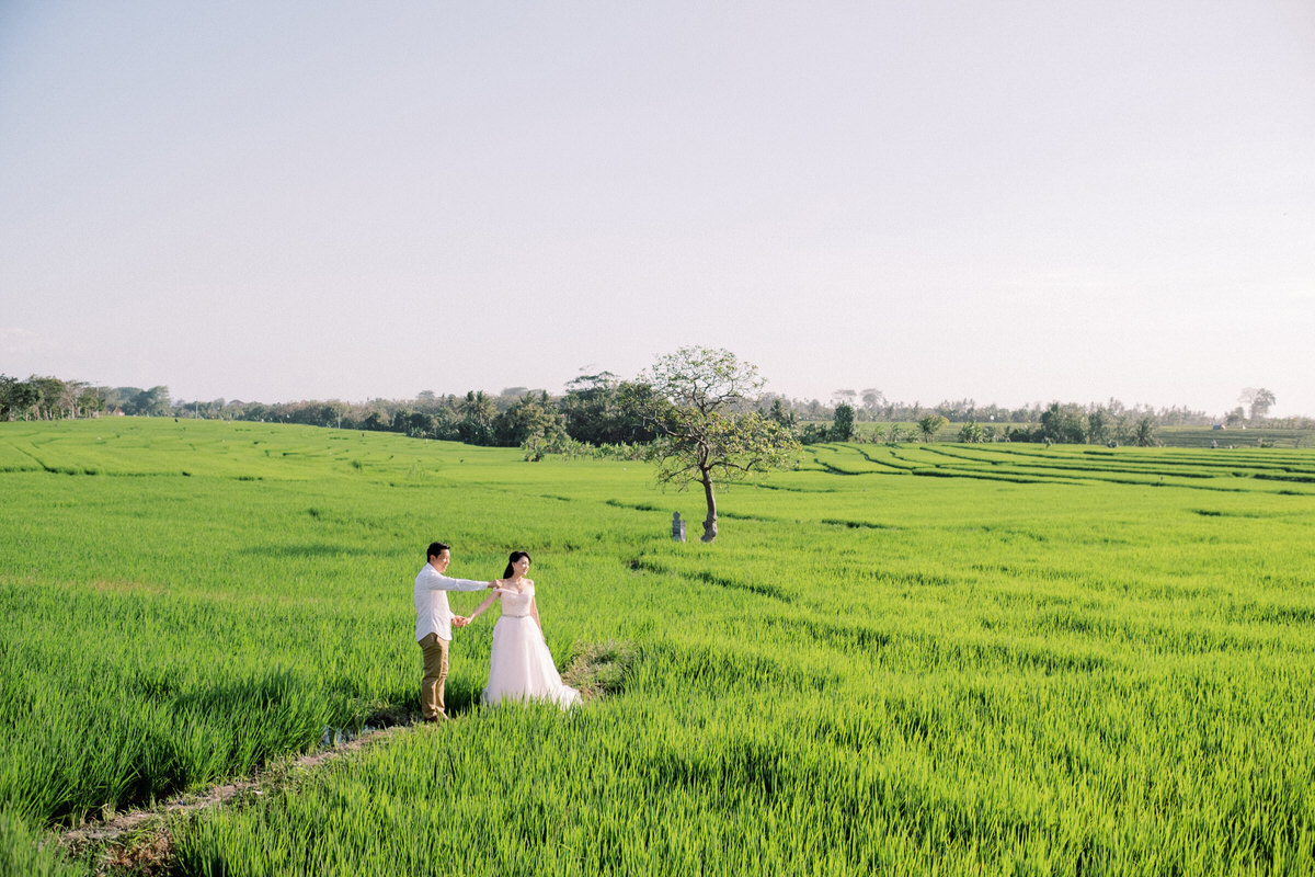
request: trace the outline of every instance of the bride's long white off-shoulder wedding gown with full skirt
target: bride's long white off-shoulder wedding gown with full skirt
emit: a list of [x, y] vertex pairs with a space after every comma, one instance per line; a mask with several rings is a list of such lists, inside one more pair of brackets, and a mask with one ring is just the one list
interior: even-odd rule
[[530, 614], [534, 585], [523, 593], [502, 590], [502, 617], [493, 626], [493, 653], [489, 657], [489, 684], [485, 703], [513, 701], [555, 701], [575, 706], [580, 692], [562, 684], [552, 655]]

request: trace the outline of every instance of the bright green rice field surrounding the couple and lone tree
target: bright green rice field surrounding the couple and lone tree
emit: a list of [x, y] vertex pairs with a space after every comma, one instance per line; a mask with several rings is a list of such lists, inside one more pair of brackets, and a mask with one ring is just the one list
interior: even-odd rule
[[[5, 873], [1315, 872], [1312, 450], [815, 444], [713, 544], [646, 463], [387, 433], [3, 423], [0, 484]], [[533, 552], [598, 694], [481, 706], [471, 626], [409, 724], [431, 539]]]

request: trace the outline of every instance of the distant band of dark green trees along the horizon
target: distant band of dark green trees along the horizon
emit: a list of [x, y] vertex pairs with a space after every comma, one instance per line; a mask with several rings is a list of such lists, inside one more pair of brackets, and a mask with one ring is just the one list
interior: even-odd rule
[[[468, 444], [519, 447], [531, 438], [535, 444], [552, 447], [564, 442], [590, 446], [639, 444], [652, 440], [639, 417], [625, 404], [636, 384], [610, 372], [585, 375], [571, 381], [565, 393], [510, 387], [498, 394], [469, 391], [464, 396], [422, 392], [416, 398], [366, 402], [316, 400], [299, 402], [243, 402], [216, 398], [175, 401], [168, 387], [92, 387], [84, 381], [32, 376], [18, 380], [0, 375], [0, 421], [59, 419], [135, 414], [147, 417], [222, 418], [304, 423], [352, 430], [402, 433]], [[1255, 393], [1256, 391], [1244, 391]], [[819, 400], [792, 400], [767, 393], [753, 402], [763, 414], [790, 426], [805, 442], [928, 439], [949, 423], [964, 425], [959, 440], [967, 442], [1056, 442], [1056, 443], [1140, 443], [1147, 430], [1160, 426], [1240, 426], [1264, 422], [1266, 426], [1311, 429], [1307, 417], [1264, 418], [1273, 394], [1258, 391], [1260, 404], [1252, 410], [1237, 406], [1224, 417], [1186, 408], [1126, 406], [1118, 400], [1103, 404], [1030, 405], [1001, 408], [977, 405], [973, 400], [942, 401], [934, 406], [890, 402], [877, 391], [836, 391], [830, 404]], [[881, 429], [859, 429], [857, 423], [889, 423]], [[901, 429], [897, 423], [917, 423]]]

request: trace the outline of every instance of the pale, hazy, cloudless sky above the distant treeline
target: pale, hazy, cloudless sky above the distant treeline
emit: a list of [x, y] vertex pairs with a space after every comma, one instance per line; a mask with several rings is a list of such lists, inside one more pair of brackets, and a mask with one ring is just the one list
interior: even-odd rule
[[0, 372], [1315, 415], [1315, 3], [0, 1]]

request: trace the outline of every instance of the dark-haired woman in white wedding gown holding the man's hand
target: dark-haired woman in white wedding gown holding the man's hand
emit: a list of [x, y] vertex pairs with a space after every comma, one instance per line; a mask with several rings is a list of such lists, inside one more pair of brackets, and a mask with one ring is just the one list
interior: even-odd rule
[[488, 600], [475, 607], [467, 623], [479, 618], [494, 601], [502, 601], [502, 617], [493, 626], [493, 652], [489, 657], [489, 684], [484, 688], [485, 703], [504, 699], [556, 701], [575, 706], [580, 692], [562, 684], [562, 676], [548, 653], [539, 607], [534, 602], [534, 582], [525, 577], [530, 571], [530, 554], [513, 551], [502, 581]]

